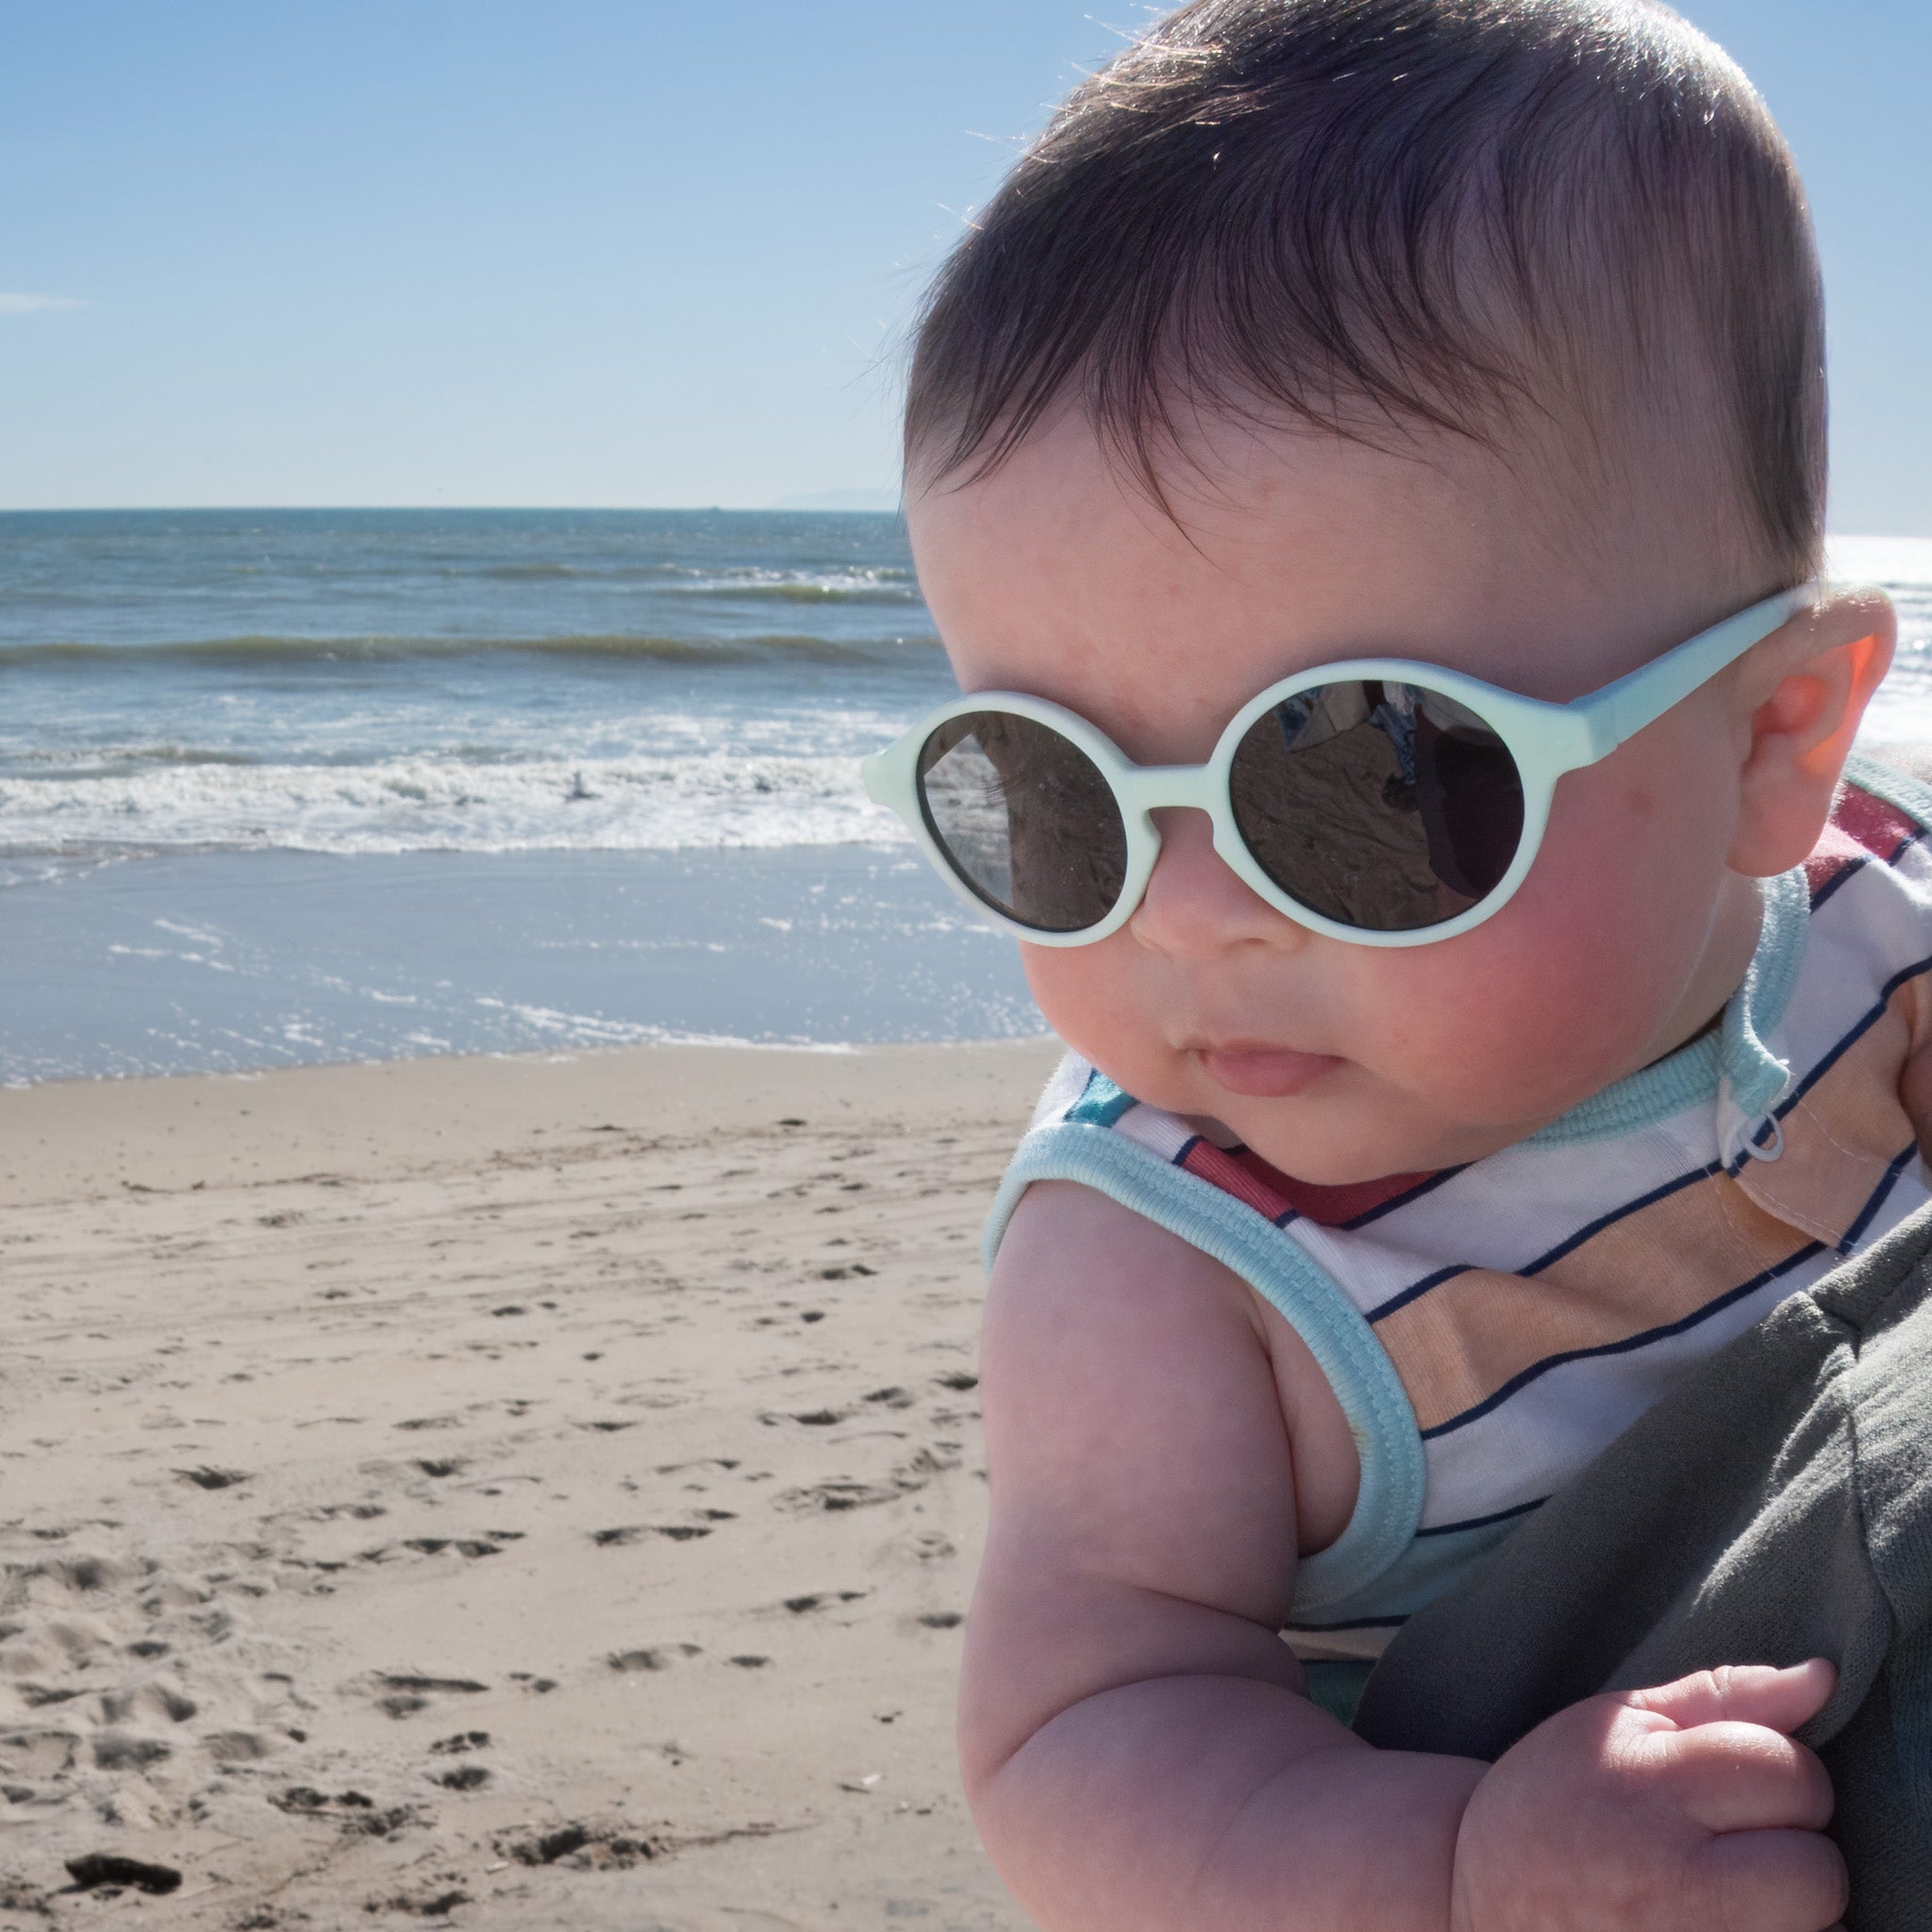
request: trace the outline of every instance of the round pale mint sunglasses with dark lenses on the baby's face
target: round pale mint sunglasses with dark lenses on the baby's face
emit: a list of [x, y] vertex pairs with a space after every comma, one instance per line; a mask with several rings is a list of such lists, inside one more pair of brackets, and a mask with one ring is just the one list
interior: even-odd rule
[[1277, 912], [1329, 939], [1420, 947], [1509, 902], [1565, 771], [1607, 757], [1818, 593], [1768, 597], [1567, 705], [1364, 657], [1271, 684], [1206, 765], [1136, 765], [1063, 705], [972, 692], [860, 769], [952, 889], [1032, 945], [1119, 931], [1161, 850], [1153, 813], [1192, 806]]

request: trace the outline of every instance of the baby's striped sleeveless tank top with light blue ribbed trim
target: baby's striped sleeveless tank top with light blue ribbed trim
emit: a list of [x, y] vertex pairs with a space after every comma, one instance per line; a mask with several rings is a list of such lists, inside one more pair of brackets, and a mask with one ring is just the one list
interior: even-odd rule
[[1289, 1642], [1372, 1658], [1692, 1362], [1932, 1200], [1899, 1072], [1932, 1039], [1932, 790], [1855, 759], [1764, 881], [1719, 1028], [1528, 1140], [1310, 1186], [1068, 1055], [987, 1223], [1078, 1180], [1180, 1235], [1306, 1341], [1362, 1461]]

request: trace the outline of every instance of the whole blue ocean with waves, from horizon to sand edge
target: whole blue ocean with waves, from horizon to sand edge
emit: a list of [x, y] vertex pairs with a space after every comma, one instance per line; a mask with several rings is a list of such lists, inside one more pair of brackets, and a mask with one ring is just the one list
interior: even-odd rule
[[893, 516], [0, 516], [0, 1080], [1039, 1032], [858, 784], [951, 690]]

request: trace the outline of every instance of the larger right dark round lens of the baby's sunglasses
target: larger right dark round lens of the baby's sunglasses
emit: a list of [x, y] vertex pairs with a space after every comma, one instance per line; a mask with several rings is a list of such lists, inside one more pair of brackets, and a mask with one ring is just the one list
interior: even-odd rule
[[1486, 898], [1522, 838], [1522, 777], [1474, 711], [1350, 678], [1254, 721], [1229, 771], [1235, 825], [1287, 895], [1378, 933]]

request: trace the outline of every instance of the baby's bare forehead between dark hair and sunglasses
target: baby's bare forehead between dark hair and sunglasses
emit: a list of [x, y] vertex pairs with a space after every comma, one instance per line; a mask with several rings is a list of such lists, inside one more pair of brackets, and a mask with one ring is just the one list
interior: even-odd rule
[[1592, 514], [1542, 462], [1449, 435], [1198, 433], [1155, 502], [1078, 412], [978, 479], [914, 487], [920, 580], [964, 690], [1070, 705], [1134, 757], [1206, 755], [1256, 692], [1405, 657], [1567, 701], [1739, 601], [1640, 493]]

